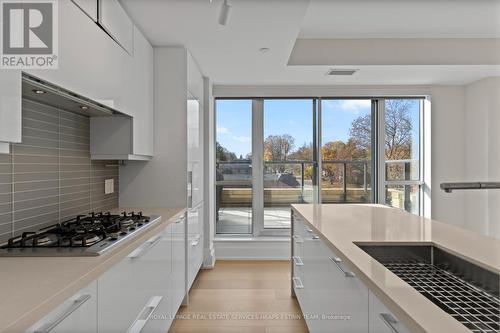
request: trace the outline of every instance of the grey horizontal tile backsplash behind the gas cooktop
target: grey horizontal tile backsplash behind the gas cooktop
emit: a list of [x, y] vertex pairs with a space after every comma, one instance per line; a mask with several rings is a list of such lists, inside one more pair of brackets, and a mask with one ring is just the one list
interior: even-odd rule
[[[116, 162], [90, 160], [89, 118], [23, 100], [23, 138], [0, 154], [0, 244], [77, 214], [118, 207]], [[104, 194], [104, 180], [115, 192]]]

